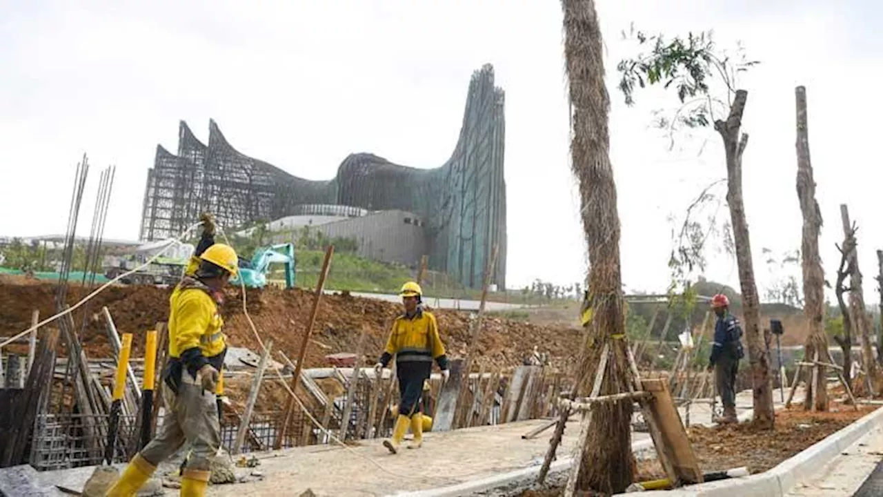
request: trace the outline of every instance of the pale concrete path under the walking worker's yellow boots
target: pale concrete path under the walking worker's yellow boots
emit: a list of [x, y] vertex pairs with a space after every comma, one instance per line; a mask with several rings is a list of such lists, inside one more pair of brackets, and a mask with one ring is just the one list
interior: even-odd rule
[[[796, 399], [801, 397], [802, 392], [798, 390]], [[710, 407], [707, 403], [692, 404], [691, 424], [711, 424]], [[750, 391], [737, 394], [736, 409], [740, 417], [750, 416]], [[683, 419], [685, 409], [680, 410]], [[391, 495], [457, 485], [530, 467], [539, 468], [546, 455], [551, 431], [543, 432], [533, 440], [522, 440], [521, 435], [543, 424], [547, 421], [429, 432], [422, 448], [409, 450], [403, 444], [398, 455], [390, 455], [381, 446], [381, 440], [360, 440], [358, 445], [349, 449], [311, 446], [260, 453], [257, 454], [260, 466], [238, 469], [239, 475], [248, 476], [256, 471], [260, 478], [249, 477], [253, 481], [210, 486], [208, 494], [236, 497], [299, 495], [311, 489], [316, 495], [342, 497]], [[559, 448], [559, 458], [570, 455], [578, 432], [579, 424], [574, 417], [565, 432], [563, 447]], [[633, 433], [633, 441], [648, 439], [645, 432]], [[159, 472], [173, 471], [176, 467], [176, 462], [162, 464]], [[64, 473], [41, 473], [41, 483], [48, 485], [53, 479], [64, 477], [65, 486], [78, 490], [70, 475], [64, 476]], [[88, 475], [91, 471], [78, 470], [78, 473]], [[166, 495], [177, 495], [177, 490], [166, 489]]]

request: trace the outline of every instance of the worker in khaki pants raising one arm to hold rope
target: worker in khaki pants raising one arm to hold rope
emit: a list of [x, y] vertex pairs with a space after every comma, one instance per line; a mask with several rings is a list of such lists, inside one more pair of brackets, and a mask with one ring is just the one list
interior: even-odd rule
[[200, 219], [199, 245], [169, 298], [169, 359], [162, 371], [167, 411], [155, 438], [132, 458], [109, 496], [134, 495], [185, 442], [191, 454], [181, 473], [181, 495], [206, 494], [210, 459], [221, 446], [215, 388], [227, 343], [219, 303], [238, 272], [238, 257], [230, 246], [215, 243], [215, 219]]

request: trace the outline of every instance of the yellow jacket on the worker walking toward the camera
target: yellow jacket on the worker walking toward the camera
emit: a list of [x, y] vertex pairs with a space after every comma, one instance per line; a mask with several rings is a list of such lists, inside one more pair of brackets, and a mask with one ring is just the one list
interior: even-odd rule
[[419, 310], [413, 317], [396, 317], [381, 363], [386, 365], [392, 356], [396, 356], [396, 363], [432, 363], [434, 359], [439, 367], [447, 369], [444, 344], [432, 312]]

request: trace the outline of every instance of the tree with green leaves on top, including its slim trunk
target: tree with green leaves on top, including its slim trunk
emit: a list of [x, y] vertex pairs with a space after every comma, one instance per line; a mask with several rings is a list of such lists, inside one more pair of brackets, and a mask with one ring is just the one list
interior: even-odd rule
[[727, 165], [727, 203], [736, 245], [736, 263], [742, 288], [745, 339], [751, 360], [754, 392], [754, 420], [761, 426], [774, 422], [773, 390], [770, 383], [766, 340], [760, 330], [760, 302], [751, 240], [742, 195], [742, 157], [748, 134], [741, 132], [748, 92], [737, 88], [736, 75], [756, 62], [744, 57], [733, 60], [721, 54], [711, 34], [689, 34], [686, 39], [667, 40], [661, 34], [635, 34], [648, 52], [624, 59], [617, 65], [622, 74], [619, 88], [628, 104], [634, 103], [636, 87], [661, 85], [674, 88], [680, 103], [671, 118], [660, 118], [660, 127], [670, 136], [678, 129], [713, 128], [721, 136]]

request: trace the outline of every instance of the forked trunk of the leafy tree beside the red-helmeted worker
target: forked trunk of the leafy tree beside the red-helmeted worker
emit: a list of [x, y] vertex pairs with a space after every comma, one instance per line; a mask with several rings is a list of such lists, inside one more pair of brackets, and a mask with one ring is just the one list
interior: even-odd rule
[[748, 135], [741, 134], [740, 136], [740, 128], [747, 100], [748, 92], [743, 89], [737, 90], [727, 120], [715, 121], [714, 129], [721, 134], [724, 151], [727, 154], [727, 203], [729, 204], [730, 220], [733, 224], [733, 241], [736, 243], [739, 283], [742, 287], [745, 339], [748, 341], [751, 385], [754, 390], [754, 422], [772, 427], [775, 415], [769, 357], [766, 356], [766, 340], [760, 332], [758, 286], [754, 282], [751, 240], [748, 235], [748, 221], [745, 219], [745, 205], [742, 196], [742, 155], [748, 145]]

